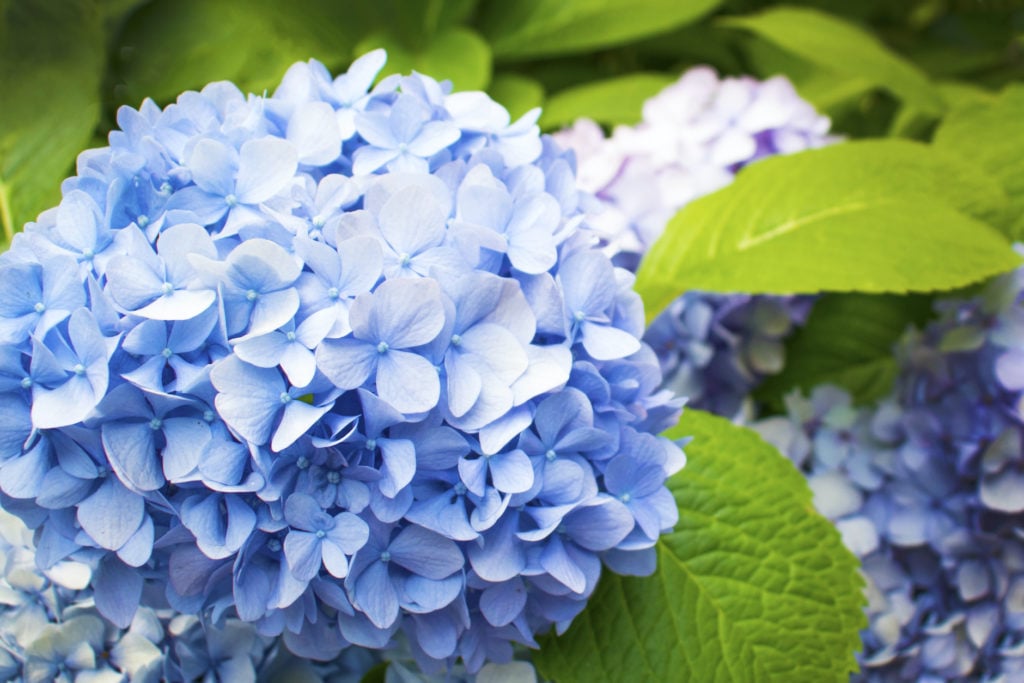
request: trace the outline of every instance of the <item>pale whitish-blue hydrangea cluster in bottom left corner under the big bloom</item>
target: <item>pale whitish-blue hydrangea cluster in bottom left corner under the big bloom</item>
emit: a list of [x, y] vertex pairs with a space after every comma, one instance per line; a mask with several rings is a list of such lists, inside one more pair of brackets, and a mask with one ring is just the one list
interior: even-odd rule
[[[273, 639], [237, 618], [204, 629], [195, 616], [141, 607], [128, 628], [114, 626], [96, 610], [90, 566], [66, 560], [41, 573], [32, 532], [3, 511], [0, 557], [0, 681], [255, 680], [282, 664]], [[361, 674], [375, 663], [352, 664], [331, 666]]]

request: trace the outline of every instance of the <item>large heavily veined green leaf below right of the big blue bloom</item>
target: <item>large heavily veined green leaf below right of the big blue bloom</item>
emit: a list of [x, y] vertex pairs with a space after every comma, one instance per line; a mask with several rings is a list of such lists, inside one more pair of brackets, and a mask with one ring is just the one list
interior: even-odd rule
[[676, 530], [653, 577], [605, 572], [534, 660], [558, 683], [847, 681], [862, 582], [803, 475], [749, 429], [687, 410], [694, 438], [669, 481]]

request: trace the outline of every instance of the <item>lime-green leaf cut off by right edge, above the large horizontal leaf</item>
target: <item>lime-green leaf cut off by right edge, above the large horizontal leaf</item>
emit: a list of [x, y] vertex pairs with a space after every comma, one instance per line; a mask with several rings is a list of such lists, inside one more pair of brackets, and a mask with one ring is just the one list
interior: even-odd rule
[[1024, 85], [1011, 86], [992, 102], [971, 101], [949, 113], [935, 145], [978, 164], [1010, 197], [1007, 231], [1024, 239]]

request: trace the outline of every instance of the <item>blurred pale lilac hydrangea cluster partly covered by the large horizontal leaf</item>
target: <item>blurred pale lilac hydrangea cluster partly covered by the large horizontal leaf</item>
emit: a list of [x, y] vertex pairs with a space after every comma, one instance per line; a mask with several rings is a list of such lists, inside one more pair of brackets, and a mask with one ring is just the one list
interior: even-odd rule
[[[720, 79], [698, 67], [648, 99], [636, 126], [616, 126], [606, 137], [582, 119], [556, 138], [575, 151], [580, 184], [597, 200], [589, 222], [605, 253], [635, 271], [687, 203], [759, 159], [837, 141], [828, 127], [784, 77]], [[806, 297], [690, 292], [655, 318], [645, 340], [666, 386], [689, 404], [744, 416], [751, 389], [781, 370], [781, 340], [810, 306]]]

